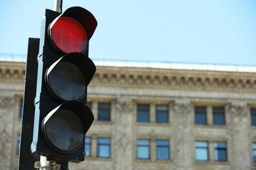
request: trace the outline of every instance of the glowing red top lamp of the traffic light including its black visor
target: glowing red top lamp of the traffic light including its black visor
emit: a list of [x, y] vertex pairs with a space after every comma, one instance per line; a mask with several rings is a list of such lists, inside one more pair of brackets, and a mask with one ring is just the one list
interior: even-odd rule
[[71, 7], [51, 23], [49, 36], [54, 46], [66, 54], [84, 52], [96, 25], [91, 12], [81, 7]]

